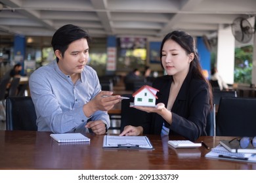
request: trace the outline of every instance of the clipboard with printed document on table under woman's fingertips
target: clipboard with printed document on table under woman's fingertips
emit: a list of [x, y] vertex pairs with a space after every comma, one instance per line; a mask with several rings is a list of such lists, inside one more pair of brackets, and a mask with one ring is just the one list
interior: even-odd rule
[[105, 135], [103, 148], [154, 150], [146, 136]]

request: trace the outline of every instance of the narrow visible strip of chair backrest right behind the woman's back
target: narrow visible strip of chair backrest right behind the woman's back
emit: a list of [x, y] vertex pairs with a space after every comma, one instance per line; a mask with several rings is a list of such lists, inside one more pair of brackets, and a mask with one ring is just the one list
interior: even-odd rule
[[208, 136], [216, 135], [215, 104], [213, 105], [213, 109], [207, 115], [205, 131]]

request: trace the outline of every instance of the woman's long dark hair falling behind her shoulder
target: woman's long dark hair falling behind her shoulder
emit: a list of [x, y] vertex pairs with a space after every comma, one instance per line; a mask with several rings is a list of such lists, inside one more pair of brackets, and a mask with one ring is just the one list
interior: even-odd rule
[[[185, 51], [187, 54], [194, 54], [194, 59], [190, 62], [190, 71], [192, 71], [192, 76], [195, 78], [199, 78], [204, 80], [209, 88], [209, 95], [210, 95], [210, 105], [211, 108], [213, 107], [213, 92], [211, 88], [211, 84], [209, 84], [209, 81], [203, 76], [202, 67], [200, 65], [198, 52], [196, 50], [196, 42], [194, 41], [194, 38], [189, 35], [188, 33], [184, 31], [173, 31], [171, 33], [168, 33], [163, 38], [163, 41], [161, 42], [161, 48], [160, 48], [160, 59], [162, 57], [161, 50], [163, 50], [163, 44], [167, 40], [173, 40], [177, 42]], [[163, 64], [161, 63], [161, 67], [163, 67]]]

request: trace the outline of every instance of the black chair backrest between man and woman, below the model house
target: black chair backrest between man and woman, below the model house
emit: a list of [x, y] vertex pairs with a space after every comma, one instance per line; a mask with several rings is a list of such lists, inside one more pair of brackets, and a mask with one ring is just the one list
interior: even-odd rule
[[133, 95], [127, 94], [123, 96], [129, 97], [130, 99], [123, 99], [121, 101], [121, 132], [126, 125], [141, 125], [144, 122], [146, 116], [146, 112], [138, 110], [137, 108], [130, 107], [130, 103], [133, 103], [134, 101]]

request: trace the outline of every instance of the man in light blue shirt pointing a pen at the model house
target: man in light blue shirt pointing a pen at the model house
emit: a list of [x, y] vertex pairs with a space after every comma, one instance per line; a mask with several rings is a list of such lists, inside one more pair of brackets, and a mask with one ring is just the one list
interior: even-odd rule
[[101, 91], [96, 71], [86, 65], [90, 39], [80, 27], [60, 27], [51, 42], [56, 61], [30, 76], [39, 131], [70, 133], [91, 129], [101, 135], [110, 127], [106, 111], [121, 101], [121, 96], [102, 97], [112, 92]]

